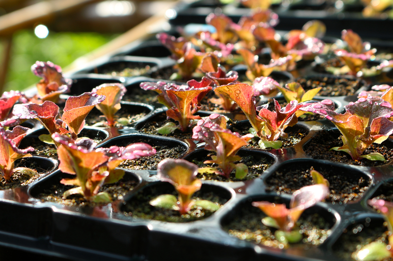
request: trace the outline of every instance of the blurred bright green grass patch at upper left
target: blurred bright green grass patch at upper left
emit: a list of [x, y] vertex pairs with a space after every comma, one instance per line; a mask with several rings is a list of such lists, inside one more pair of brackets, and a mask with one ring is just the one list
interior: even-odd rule
[[31, 65], [36, 61], [51, 61], [64, 68], [114, 37], [115, 35], [99, 33], [50, 31], [47, 38], [40, 39], [32, 30], [21, 30], [13, 37], [11, 61], [4, 91], [24, 90], [38, 82], [40, 78], [30, 71]]

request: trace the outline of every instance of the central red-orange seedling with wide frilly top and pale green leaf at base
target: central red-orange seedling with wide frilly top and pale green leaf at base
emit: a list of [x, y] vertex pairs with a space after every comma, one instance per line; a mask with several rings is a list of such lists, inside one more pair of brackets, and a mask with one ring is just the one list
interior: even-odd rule
[[143, 90], [156, 91], [158, 101], [167, 106], [168, 118], [179, 122], [179, 127], [174, 123], [166, 124], [157, 131], [161, 134], [168, 134], [177, 128], [182, 132], [188, 130], [190, 120], [200, 119], [194, 115], [200, 109], [200, 101], [212, 89], [209, 84], [212, 81], [203, 77], [200, 82], [190, 80], [187, 85], [176, 85], [174, 83], [165, 82], [142, 82], [140, 88]]

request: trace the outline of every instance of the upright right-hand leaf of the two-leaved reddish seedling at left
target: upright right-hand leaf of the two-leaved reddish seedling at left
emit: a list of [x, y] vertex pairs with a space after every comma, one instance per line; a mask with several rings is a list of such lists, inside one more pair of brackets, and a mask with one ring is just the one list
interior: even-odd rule
[[63, 109], [61, 119], [67, 123], [69, 131], [78, 135], [84, 127], [84, 119], [87, 114], [100, 102], [105, 100], [105, 96], [96, 93], [84, 93], [79, 96], [69, 97]]

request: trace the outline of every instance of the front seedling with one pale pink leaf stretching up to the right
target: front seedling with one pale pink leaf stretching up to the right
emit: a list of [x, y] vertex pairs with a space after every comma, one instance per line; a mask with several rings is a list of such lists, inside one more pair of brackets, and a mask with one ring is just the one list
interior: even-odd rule
[[289, 209], [285, 204], [275, 204], [268, 201], [255, 201], [253, 206], [267, 215], [262, 218], [262, 223], [265, 226], [276, 228], [276, 239], [287, 245], [302, 240], [300, 230], [294, 230], [296, 222], [304, 210], [322, 201], [328, 193], [329, 188], [324, 184], [311, 185], [293, 193]]

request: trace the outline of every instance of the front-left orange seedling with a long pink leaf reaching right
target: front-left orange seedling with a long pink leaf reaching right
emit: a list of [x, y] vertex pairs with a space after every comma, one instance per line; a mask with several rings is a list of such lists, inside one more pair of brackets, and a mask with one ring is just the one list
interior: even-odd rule
[[64, 173], [76, 175], [75, 179], [60, 181], [64, 185], [78, 186], [65, 191], [64, 198], [72, 194], [81, 194], [93, 202], [110, 202], [112, 199], [108, 193], [98, 191], [102, 185], [117, 182], [124, 176], [124, 170], [116, 167], [123, 160], [134, 160], [156, 153], [156, 150], [146, 143], [95, 149], [97, 143], [88, 138], [74, 141], [59, 133], [54, 133], [52, 138], [60, 144], [57, 148], [59, 169]]

